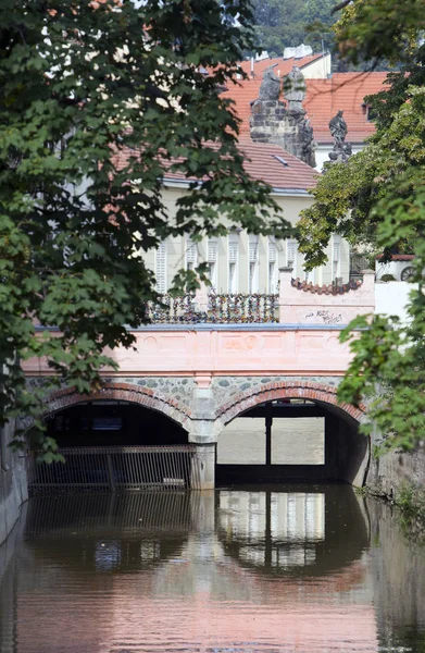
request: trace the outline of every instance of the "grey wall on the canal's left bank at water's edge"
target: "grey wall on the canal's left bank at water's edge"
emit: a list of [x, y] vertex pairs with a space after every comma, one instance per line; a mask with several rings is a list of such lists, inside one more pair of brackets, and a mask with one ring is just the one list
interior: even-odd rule
[[[4, 445], [13, 434], [14, 423], [4, 430]], [[7, 539], [20, 516], [20, 506], [28, 498], [24, 459], [8, 446], [0, 453], [0, 544]]]

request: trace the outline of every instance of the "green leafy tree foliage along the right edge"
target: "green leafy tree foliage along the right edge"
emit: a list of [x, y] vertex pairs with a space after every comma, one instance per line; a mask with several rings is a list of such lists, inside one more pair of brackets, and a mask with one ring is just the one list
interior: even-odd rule
[[368, 98], [377, 115], [370, 145], [347, 164], [327, 169], [300, 223], [300, 249], [310, 268], [326, 260], [333, 232], [384, 251], [386, 260], [397, 251], [415, 254], [409, 323], [374, 316], [355, 320], [341, 335], [355, 357], [339, 398], [354, 405], [367, 399], [363, 430], [383, 434], [380, 451], [409, 451], [425, 439], [423, 10], [416, 0], [404, 2], [402, 13], [393, 0], [357, 0], [343, 11], [337, 35], [346, 54], [354, 62], [401, 60], [403, 66], [388, 75], [388, 90]]

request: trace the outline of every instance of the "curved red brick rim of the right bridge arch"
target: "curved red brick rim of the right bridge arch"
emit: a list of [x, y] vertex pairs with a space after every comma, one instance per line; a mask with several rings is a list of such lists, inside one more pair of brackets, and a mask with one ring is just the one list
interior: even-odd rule
[[350, 404], [339, 403], [337, 399], [337, 390], [335, 385], [326, 385], [308, 380], [268, 382], [235, 394], [230, 401], [217, 408], [216, 415], [222, 424], [226, 426], [235, 417], [253, 408], [258, 404], [284, 398], [302, 398], [330, 404], [355, 421], [362, 422], [365, 418], [366, 407], [361, 405], [357, 408]]

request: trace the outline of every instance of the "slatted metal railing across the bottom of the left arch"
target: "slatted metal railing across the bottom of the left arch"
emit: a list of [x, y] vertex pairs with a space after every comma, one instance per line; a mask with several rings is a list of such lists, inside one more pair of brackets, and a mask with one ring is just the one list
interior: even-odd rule
[[64, 463], [27, 452], [28, 493], [198, 490], [195, 445], [86, 446], [58, 449]]

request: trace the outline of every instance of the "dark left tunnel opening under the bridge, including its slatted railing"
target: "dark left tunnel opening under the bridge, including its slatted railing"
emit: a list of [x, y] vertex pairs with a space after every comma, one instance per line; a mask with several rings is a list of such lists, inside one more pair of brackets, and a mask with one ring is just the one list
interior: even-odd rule
[[28, 493], [182, 490], [199, 481], [196, 447], [173, 419], [123, 401], [82, 402], [46, 418], [63, 460], [28, 452]]

